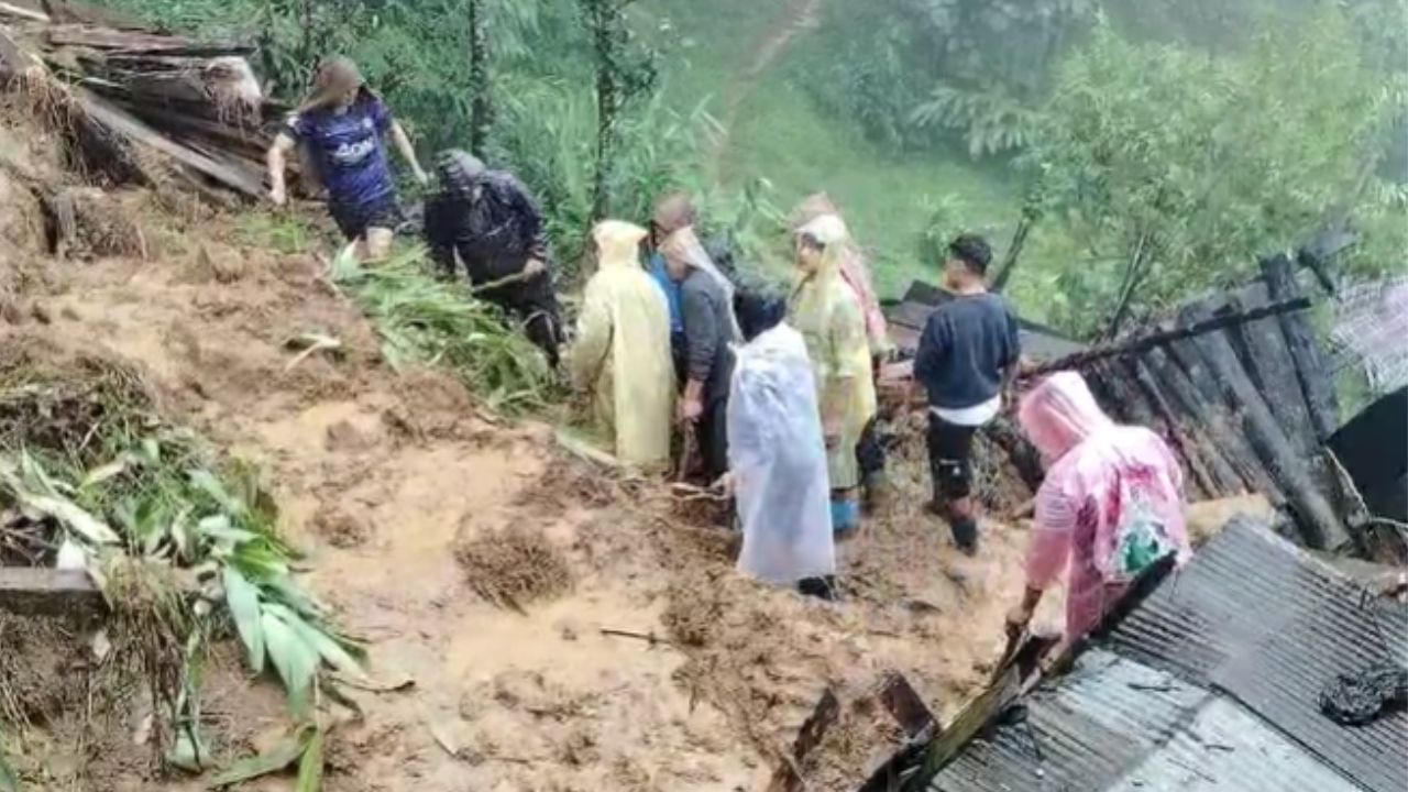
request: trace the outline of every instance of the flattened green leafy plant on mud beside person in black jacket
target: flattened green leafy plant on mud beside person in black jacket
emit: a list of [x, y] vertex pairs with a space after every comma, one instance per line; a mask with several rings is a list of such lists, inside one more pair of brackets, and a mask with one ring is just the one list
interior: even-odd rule
[[496, 410], [527, 412], [549, 403], [553, 373], [542, 352], [494, 306], [435, 279], [425, 248], [362, 266], [349, 245], [332, 261], [331, 278], [376, 326], [393, 368], [444, 366]]

